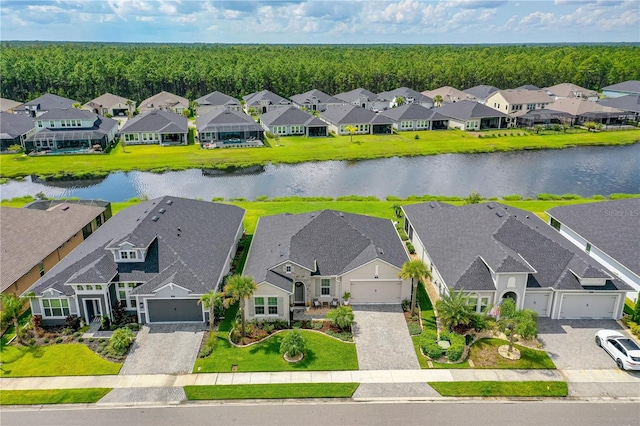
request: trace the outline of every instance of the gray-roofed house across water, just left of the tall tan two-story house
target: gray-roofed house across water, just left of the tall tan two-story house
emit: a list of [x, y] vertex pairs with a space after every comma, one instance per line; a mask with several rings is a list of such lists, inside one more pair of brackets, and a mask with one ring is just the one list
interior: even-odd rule
[[450, 129], [502, 129], [508, 125], [507, 114], [474, 101], [444, 104], [437, 111], [449, 119]]

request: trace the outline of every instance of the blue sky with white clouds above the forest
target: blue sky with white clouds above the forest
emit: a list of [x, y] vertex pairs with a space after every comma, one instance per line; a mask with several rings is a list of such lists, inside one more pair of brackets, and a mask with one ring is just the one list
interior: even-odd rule
[[0, 0], [0, 40], [640, 42], [640, 0]]

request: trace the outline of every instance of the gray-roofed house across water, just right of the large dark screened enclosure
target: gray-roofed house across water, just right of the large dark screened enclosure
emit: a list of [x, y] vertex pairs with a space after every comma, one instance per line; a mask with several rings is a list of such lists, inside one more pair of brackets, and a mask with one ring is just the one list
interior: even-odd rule
[[327, 123], [294, 106], [278, 108], [262, 114], [260, 125], [266, 132], [280, 136], [328, 136]]

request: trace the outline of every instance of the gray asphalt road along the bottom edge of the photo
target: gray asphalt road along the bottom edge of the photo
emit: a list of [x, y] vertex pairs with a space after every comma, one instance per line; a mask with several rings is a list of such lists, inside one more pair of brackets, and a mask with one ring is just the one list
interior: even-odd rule
[[[93, 406], [95, 407], [95, 406]], [[176, 407], [3, 409], [13, 425], [640, 425], [637, 402], [256, 402]]]

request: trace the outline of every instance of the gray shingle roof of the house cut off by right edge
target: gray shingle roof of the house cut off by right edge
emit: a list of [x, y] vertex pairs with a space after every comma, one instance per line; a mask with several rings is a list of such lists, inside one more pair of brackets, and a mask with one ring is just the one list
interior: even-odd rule
[[547, 213], [640, 276], [640, 198], [560, 206]]

